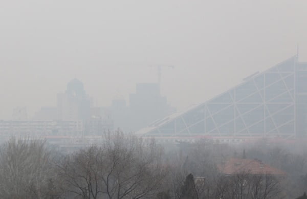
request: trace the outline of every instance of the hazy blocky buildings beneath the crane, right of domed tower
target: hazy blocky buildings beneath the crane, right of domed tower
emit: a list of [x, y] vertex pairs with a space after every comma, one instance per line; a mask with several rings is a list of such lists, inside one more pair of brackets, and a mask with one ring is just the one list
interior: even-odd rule
[[155, 120], [176, 112], [176, 108], [161, 96], [158, 83], [137, 83], [136, 93], [129, 95], [129, 103], [122, 96], [112, 100], [109, 108], [114, 127], [125, 132], [137, 131]]

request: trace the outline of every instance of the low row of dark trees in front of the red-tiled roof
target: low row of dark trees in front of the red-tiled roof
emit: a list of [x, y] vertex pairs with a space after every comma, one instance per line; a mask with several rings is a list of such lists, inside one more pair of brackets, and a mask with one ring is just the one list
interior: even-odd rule
[[[181, 187], [181, 199], [198, 199], [198, 198], [286, 198], [282, 193], [280, 181], [274, 176], [251, 175], [249, 173], [236, 173], [231, 176], [220, 176], [217, 181], [212, 181], [210, 188], [206, 180], [197, 181], [190, 173]], [[164, 197], [171, 198], [170, 196]]]

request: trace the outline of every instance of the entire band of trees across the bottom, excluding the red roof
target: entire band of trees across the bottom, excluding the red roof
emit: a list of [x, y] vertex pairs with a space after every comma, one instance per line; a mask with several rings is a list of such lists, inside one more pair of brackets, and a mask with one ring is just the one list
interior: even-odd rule
[[[99, 145], [61, 154], [45, 141], [12, 138], [0, 150], [0, 198], [305, 198], [304, 149], [200, 140], [164, 150], [117, 131]], [[287, 175], [225, 175], [218, 165], [229, 158], [261, 159]]]

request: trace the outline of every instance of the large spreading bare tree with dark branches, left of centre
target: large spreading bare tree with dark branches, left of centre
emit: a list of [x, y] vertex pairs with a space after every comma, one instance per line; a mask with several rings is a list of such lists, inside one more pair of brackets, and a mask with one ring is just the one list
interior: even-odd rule
[[59, 175], [67, 193], [81, 198], [150, 198], [166, 176], [162, 148], [122, 132], [105, 134], [101, 146], [66, 157]]

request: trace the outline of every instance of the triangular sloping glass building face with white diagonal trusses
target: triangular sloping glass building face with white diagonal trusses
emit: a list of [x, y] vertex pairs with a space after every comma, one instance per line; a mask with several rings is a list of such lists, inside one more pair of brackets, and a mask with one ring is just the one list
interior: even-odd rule
[[146, 134], [294, 137], [296, 63], [295, 56], [246, 78], [177, 117], [153, 123]]

